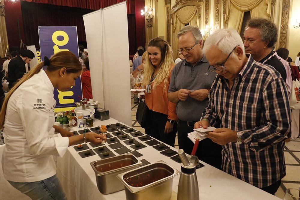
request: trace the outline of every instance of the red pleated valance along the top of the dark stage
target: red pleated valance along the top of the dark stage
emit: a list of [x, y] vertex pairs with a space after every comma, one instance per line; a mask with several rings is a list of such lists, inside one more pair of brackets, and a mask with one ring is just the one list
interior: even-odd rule
[[[108, 7], [113, 4], [120, 3], [126, 0], [22, 0], [34, 3], [52, 4], [58, 6], [68, 6], [85, 8], [90, 10], [99, 10], [100, 8]], [[127, 14], [134, 14], [134, 0], [127, 0]]]

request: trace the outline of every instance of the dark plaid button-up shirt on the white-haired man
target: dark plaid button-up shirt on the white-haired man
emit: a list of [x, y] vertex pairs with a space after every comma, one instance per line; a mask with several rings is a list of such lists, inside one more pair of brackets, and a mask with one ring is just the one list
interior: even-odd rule
[[285, 176], [284, 140], [291, 136], [287, 89], [278, 71], [251, 55], [232, 88], [216, 76], [202, 114], [211, 125], [241, 134], [243, 143], [223, 146], [222, 168], [253, 186], [267, 187]]

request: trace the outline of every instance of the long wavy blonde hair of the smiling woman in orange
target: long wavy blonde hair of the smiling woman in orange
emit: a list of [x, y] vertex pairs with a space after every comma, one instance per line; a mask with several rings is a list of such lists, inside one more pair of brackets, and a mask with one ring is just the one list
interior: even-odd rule
[[[164, 91], [165, 91], [166, 87], [167, 87], [167, 81], [170, 76], [170, 71], [171, 71], [172, 67], [175, 65], [174, 58], [172, 56], [171, 47], [165, 40], [163, 40], [159, 37], [152, 39], [148, 44], [148, 47], [149, 46], [154, 46], [161, 50], [160, 68], [158, 70], [156, 78], [154, 79], [154, 81], [152, 83], [152, 89], [154, 90], [156, 86], [160, 85], [163, 82], [164, 83]], [[155, 67], [152, 64], [152, 62], [150, 61], [149, 56], [147, 56], [145, 63], [144, 63], [143, 85], [149, 84], [154, 71], [155, 71]]]

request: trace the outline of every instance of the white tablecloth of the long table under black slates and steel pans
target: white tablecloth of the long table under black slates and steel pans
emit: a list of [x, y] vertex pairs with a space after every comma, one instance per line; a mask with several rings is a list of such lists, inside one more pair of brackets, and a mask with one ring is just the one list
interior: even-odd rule
[[[110, 118], [106, 121], [96, 120], [94, 126], [115, 124], [116, 120]], [[78, 130], [78, 128], [74, 128]], [[138, 139], [137, 139], [138, 140]], [[140, 142], [140, 141], [139, 141]], [[123, 145], [131, 149], [124, 142], [121, 141]], [[141, 142], [145, 144], [145, 142]], [[146, 144], [145, 144], [146, 145]], [[93, 149], [89, 144], [88, 146]], [[146, 148], [138, 150], [142, 157], [139, 157], [139, 160], [146, 159], [150, 163], [153, 163], [158, 160], [163, 160], [169, 165], [173, 166], [175, 169], [181, 171], [179, 163], [171, 160], [169, 157], [166, 157], [159, 153], [159, 151], [154, 148], [146, 145]], [[109, 146], [107, 146], [111, 149]], [[171, 147], [173, 150], [177, 149]], [[134, 151], [134, 149], [131, 149]], [[113, 150], [112, 150], [113, 151]], [[113, 151], [114, 152], [114, 151]], [[115, 153], [115, 152], [114, 152]], [[118, 155], [117, 153], [115, 153]], [[57, 175], [60, 179], [67, 198], [69, 200], [121, 200], [126, 199], [125, 190], [103, 195], [99, 192], [95, 172], [90, 166], [90, 162], [100, 160], [101, 158], [96, 154], [94, 156], [81, 158], [73, 148], [69, 147], [66, 154], [62, 158], [57, 160]], [[201, 162], [203, 163], [203, 162]], [[205, 166], [197, 169], [196, 174], [199, 184], [199, 195], [200, 199], [279, 199], [269, 193], [266, 193], [244, 181], [241, 181], [219, 169], [214, 168], [206, 163], [203, 163]], [[173, 193], [172, 200], [177, 199], [177, 189], [178, 189], [179, 176], [176, 176], [173, 179]]]

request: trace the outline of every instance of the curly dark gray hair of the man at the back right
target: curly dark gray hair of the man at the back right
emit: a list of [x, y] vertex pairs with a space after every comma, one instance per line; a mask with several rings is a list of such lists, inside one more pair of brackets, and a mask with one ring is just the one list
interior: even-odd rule
[[270, 48], [275, 46], [278, 37], [278, 29], [271, 20], [259, 17], [249, 19], [246, 23], [245, 31], [248, 27], [259, 28], [261, 40], [268, 41], [268, 47]]

